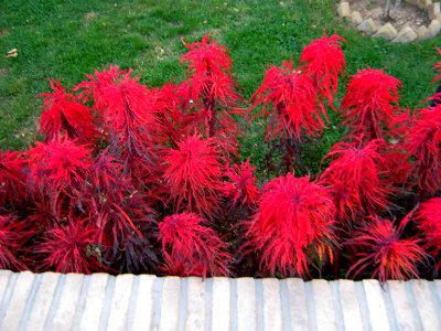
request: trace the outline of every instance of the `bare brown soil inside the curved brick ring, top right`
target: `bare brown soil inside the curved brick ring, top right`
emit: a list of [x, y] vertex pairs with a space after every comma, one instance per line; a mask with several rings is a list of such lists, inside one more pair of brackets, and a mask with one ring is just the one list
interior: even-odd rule
[[[395, 1], [390, 1], [394, 3]], [[351, 11], [359, 11], [363, 19], [372, 18], [377, 26], [389, 22], [397, 31], [404, 26], [410, 26], [415, 31], [421, 25], [428, 26], [430, 24], [428, 12], [419, 9], [418, 7], [407, 3], [401, 0], [401, 4], [395, 11], [391, 10], [391, 18], [384, 17], [384, 9], [386, 0], [349, 0]]]

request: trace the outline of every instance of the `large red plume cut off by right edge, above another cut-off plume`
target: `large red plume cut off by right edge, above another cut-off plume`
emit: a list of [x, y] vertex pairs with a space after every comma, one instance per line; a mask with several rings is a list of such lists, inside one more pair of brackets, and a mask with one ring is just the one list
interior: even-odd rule
[[407, 134], [406, 150], [415, 158], [419, 188], [435, 193], [441, 188], [441, 105], [421, 109]]

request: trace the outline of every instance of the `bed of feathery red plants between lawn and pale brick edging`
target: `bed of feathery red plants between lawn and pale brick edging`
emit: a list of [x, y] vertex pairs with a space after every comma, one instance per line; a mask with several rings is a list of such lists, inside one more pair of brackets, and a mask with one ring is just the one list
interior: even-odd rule
[[[343, 42], [324, 35], [298, 65], [270, 66], [248, 103], [228, 50], [208, 36], [185, 44], [179, 84], [149, 88], [114, 65], [72, 92], [53, 81], [41, 141], [0, 153], [0, 268], [438, 275], [441, 106], [434, 96], [401, 109], [399, 79], [364, 68], [337, 108]], [[346, 135], [313, 171], [304, 147], [325, 139], [334, 113]], [[238, 138], [241, 119], [260, 116], [269, 153], [258, 180]]]

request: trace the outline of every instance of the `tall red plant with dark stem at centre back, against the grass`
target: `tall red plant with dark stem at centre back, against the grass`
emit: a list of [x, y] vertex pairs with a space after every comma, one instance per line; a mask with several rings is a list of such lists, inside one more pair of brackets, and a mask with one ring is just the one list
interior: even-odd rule
[[187, 81], [181, 85], [180, 94], [191, 110], [194, 107], [198, 109], [196, 113], [205, 128], [201, 134], [214, 138], [229, 153], [237, 154], [237, 137], [241, 131], [233, 115], [241, 116], [243, 110], [238, 107], [241, 97], [235, 90], [228, 49], [208, 35], [204, 35], [201, 42], [183, 43], [189, 50], [181, 56], [181, 62], [187, 64]]

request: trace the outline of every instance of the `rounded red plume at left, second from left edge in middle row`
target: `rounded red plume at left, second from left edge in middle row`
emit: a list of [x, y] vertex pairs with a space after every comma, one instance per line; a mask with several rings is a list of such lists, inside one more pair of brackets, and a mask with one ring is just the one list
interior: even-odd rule
[[92, 166], [90, 150], [66, 138], [35, 142], [26, 153], [28, 184], [34, 200], [49, 199], [54, 216], [61, 203], [83, 190]]

